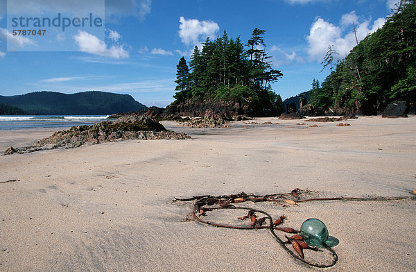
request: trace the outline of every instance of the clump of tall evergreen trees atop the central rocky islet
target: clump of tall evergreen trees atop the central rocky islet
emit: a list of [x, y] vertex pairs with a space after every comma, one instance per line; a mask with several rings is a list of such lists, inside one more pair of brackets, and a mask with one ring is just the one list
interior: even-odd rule
[[225, 31], [214, 41], [207, 38], [201, 50], [195, 46], [189, 70], [183, 57], [177, 65], [175, 90], [180, 92], [173, 96], [173, 104], [189, 100], [240, 101], [254, 108], [280, 110], [281, 99], [270, 90], [270, 83], [283, 74], [272, 69], [268, 61], [270, 56], [263, 49], [265, 32], [255, 28], [246, 50], [240, 37], [234, 40]]

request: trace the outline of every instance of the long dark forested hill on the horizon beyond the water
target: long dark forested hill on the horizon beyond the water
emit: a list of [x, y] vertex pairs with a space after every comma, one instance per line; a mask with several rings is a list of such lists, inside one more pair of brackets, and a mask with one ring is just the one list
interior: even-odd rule
[[0, 96], [0, 104], [20, 108], [25, 114], [101, 115], [137, 111], [146, 108], [128, 94], [110, 92], [31, 92], [16, 96]]

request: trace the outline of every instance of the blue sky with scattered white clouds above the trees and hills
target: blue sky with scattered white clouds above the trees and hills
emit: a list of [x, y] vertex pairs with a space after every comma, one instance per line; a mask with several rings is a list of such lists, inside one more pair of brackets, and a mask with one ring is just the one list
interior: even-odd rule
[[[18, 6], [22, 13], [49, 10], [56, 14], [76, 12], [80, 0], [9, 1], [26, 1], [28, 6]], [[79, 3], [96, 12], [100, 1]], [[352, 22], [362, 40], [383, 25], [396, 2], [105, 0], [103, 35], [77, 29], [65, 40], [73, 51], [33, 51], [39, 42], [11, 35], [7, 3], [0, 0], [0, 95], [100, 90], [130, 94], [145, 105], [164, 107], [173, 101], [181, 56], [189, 60], [193, 46], [223, 31], [246, 42], [258, 27], [267, 31], [266, 51], [273, 67], [284, 74], [272, 84], [273, 90], [286, 99], [309, 90], [313, 78], [322, 81], [329, 74], [328, 69], [320, 72], [320, 62], [330, 44], [341, 58], [352, 49], [356, 43]], [[54, 38], [61, 36], [57, 33]], [[15, 44], [13, 51], [8, 51], [7, 40]]]

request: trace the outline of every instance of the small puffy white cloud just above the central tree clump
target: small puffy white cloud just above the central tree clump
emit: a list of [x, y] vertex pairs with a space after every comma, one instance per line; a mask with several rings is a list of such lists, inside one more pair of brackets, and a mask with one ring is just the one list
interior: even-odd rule
[[179, 37], [187, 45], [200, 44], [200, 39], [206, 37], [214, 38], [220, 27], [216, 22], [199, 21], [198, 19], [179, 18]]

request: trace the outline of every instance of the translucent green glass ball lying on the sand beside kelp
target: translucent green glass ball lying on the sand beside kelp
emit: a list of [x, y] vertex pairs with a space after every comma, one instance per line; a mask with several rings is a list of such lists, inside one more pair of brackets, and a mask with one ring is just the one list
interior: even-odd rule
[[315, 218], [308, 219], [302, 223], [300, 234], [309, 246], [320, 246], [328, 239], [327, 226]]

